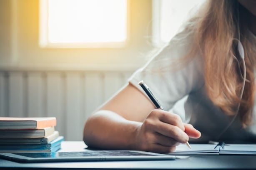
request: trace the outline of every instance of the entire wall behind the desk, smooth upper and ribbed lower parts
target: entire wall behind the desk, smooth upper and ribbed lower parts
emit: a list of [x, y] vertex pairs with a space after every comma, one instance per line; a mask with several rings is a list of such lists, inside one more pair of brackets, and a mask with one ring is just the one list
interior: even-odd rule
[[130, 40], [118, 49], [38, 46], [38, 0], [0, 1], [0, 116], [55, 116], [65, 140], [127, 83], [153, 48], [151, 0], [130, 0]]

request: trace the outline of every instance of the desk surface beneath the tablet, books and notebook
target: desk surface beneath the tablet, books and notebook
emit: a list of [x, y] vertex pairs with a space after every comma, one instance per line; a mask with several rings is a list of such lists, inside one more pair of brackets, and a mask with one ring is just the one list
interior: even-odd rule
[[[86, 150], [83, 141], [64, 141], [64, 151]], [[0, 169], [256, 169], [256, 155], [193, 155], [163, 161], [16, 163], [0, 159]]]

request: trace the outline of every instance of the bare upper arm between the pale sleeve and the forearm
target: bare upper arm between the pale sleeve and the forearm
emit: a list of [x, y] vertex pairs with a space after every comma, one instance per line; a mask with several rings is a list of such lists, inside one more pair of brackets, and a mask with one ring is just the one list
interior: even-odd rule
[[140, 90], [128, 84], [100, 110], [110, 110], [127, 120], [142, 122], [154, 108], [153, 103]]

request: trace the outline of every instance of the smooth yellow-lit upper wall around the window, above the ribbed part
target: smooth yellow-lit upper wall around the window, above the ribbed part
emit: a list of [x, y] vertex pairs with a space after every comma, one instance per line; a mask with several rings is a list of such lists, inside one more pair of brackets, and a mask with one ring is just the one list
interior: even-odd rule
[[[2, 0], [0, 67], [32, 69], [131, 70], [150, 51], [151, 1], [130, 0], [130, 38], [123, 48], [55, 49], [38, 46], [38, 0]], [[9, 8], [9, 10], [8, 10]]]

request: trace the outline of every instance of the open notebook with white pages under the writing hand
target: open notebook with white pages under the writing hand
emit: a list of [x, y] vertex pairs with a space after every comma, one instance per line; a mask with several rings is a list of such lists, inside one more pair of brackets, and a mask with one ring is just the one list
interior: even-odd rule
[[190, 144], [191, 149], [186, 144], [176, 147], [170, 155], [197, 155], [197, 154], [246, 154], [256, 155], [256, 144]]

